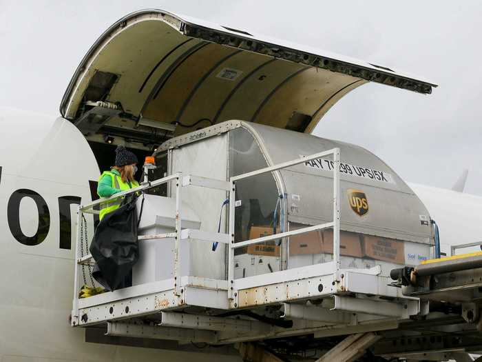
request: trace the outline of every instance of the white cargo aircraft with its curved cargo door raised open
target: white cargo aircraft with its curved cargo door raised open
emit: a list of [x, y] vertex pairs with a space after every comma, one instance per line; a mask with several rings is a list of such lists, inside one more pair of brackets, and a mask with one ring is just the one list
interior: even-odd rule
[[[115, 145], [142, 159], [173, 137], [231, 119], [311, 133], [334, 103], [370, 81], [421, 94], [435, 87], [373, 63], [142, 10], [114, 23], [85, 54], [60, 117], [0, 108], [0, 360], [211, 361], [216, 353], [240, 361], [232, 345], [72, 328], [77, 207], [96, 199]], [[460, 187], [412, 189], [439, 223], [443, 252], [449, 241], [479, 241], [482, 197]]]

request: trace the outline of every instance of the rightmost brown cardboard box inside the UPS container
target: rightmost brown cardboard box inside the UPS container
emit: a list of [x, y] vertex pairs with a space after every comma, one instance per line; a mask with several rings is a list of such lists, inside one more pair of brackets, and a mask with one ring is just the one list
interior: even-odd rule
[[404, 264], [404, 242], [394, 239], [364, 235], [364, 255], [381, 261]]

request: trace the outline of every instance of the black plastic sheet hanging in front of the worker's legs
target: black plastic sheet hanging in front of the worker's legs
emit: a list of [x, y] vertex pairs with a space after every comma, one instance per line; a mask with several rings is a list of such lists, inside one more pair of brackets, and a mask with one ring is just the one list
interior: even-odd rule
[[96, 261], [92, 276], [106, 290], [132, 285], [132, 267], [139, 259], [136, 199], [127, 195], [118, 209], [105, 214], [90, 245]]

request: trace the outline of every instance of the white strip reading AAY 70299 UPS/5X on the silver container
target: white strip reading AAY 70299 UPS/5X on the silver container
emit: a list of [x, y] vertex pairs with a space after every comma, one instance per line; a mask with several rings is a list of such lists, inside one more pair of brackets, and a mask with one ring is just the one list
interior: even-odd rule
[[[306, 167], [316, 168], [317, 170], [333, 171], [335, 163], [329, 159], [314, 159], [304, 163]], [[384, 183], [395, 183], [392, 174], [385, 171], [375, 170], [364, 166], [351, 165], [350, 163], [339, 163], [339, 172], [353, 177], [362, 177], [373, 181]]]

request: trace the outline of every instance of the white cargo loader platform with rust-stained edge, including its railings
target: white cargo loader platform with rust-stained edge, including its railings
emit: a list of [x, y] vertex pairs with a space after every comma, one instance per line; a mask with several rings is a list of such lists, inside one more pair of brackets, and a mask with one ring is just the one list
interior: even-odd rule
[[[175, 190], [176, 205], [172, 215], [172, 232], [140, 235], [139, 243], [155, 240], [163, 245], [174, 240], [174, 275], [172, 278], [132, 285], [85, 299], [78, 298], [81, 269], [93, 265], [90, 255], [76, 257], [76, 283], [72, 325], [87, 327], [107, 323], [107, 335], [132, 336], [147, 339], [225, 344], [240, 341], [297, 336], [324, 332], [327, 336], [346, 334], [347, 330], [366, 332], [397, 328], [399, 321], [423, 313], [417, 298], [404, 296], [388, 284], [381, 268], [342, 268], [339, 252], [339, 168], [333, 168], [333, 218], [329, 223], [280, 232], [275, 235], [234, 243], [234, 219], [229, 219], [229, 232], [204, 232], [183, 229], [182, 198], [186, 188], [224, 190], [235, 199], [236, 183], [248, 177], [275, 172], [320, 157], [334, 157], [339, 164], [339, 149], [319, 152], [308, 157], [262, 168], [249, 174], [219, 181], [180, 172], [121, 192], [103, 201], [79, 207], [78, 225], [82, 214], [96, 213], [96, 206], [134, 192], [145, 192], [165, 183]], [[149, 195], [146, 195], [149, 197]], [[233, 216], [235, 203], [229, 203]], [[269, 274], [233, 277], [236, 248], [302, 235], [315, 230], [333, 229], [333, 261], [308, 265]], [[81, 228], [78, 228], [80, 250]], [[209, 279], [180, 274], [184, 257], [180, 243], [201, 241], [209, 248], [212, 243], [227, 245], [228, 277]]]

